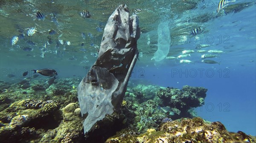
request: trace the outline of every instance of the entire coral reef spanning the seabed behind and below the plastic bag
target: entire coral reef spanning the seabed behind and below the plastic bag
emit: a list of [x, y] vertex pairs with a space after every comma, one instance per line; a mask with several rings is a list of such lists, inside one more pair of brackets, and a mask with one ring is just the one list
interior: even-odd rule
[[[175, 120], [196, 116], [193, 107], [204, 104], [207, 89], [184, 86], [179, 90], [142, 84], [128, 88], [121, 108], [98, 121], [96, 129], [85, 139], [77, 90], [73, 88], [79, 80], [58, 79], [49, 87], [40, 83], [41, 80], [30, 80], [31, 87], [26, 90], [20, 88], [23, 84], [0, 83], [8, 87], [0, 87], [2, 143], [84, 143], [84, 140], [104, 143], [109, 137], [106, 143], [170, 143], [172, 140], [203, 143], [209, 138], [207, 143], [216, 140], [215, 143], [232, 143], [231, 139], [235, 138], [237, 143], [253, 143], [255, 140], [243, 132], [227, 132], [219, 122], [200, 118]], [[35, 91], [34, 87], [46, 90]], [[188, 104], [191, 101], [193, 104]], [[181, 110], [187, 104], [189, 109]], [[171, 109], [169, 112], [175, 114], [161, 108]]]

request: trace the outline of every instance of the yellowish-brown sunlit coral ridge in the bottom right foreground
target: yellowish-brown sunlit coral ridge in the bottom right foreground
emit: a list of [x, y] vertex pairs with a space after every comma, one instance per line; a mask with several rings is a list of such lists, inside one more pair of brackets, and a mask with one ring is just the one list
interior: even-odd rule
[[183, 118], [164, 123], [160, 131], [148, 129], [140, 135], [122, 131], [105, 143], [255, 143], [255, 139], [241, 131], [228, 132], [220, 122]]

